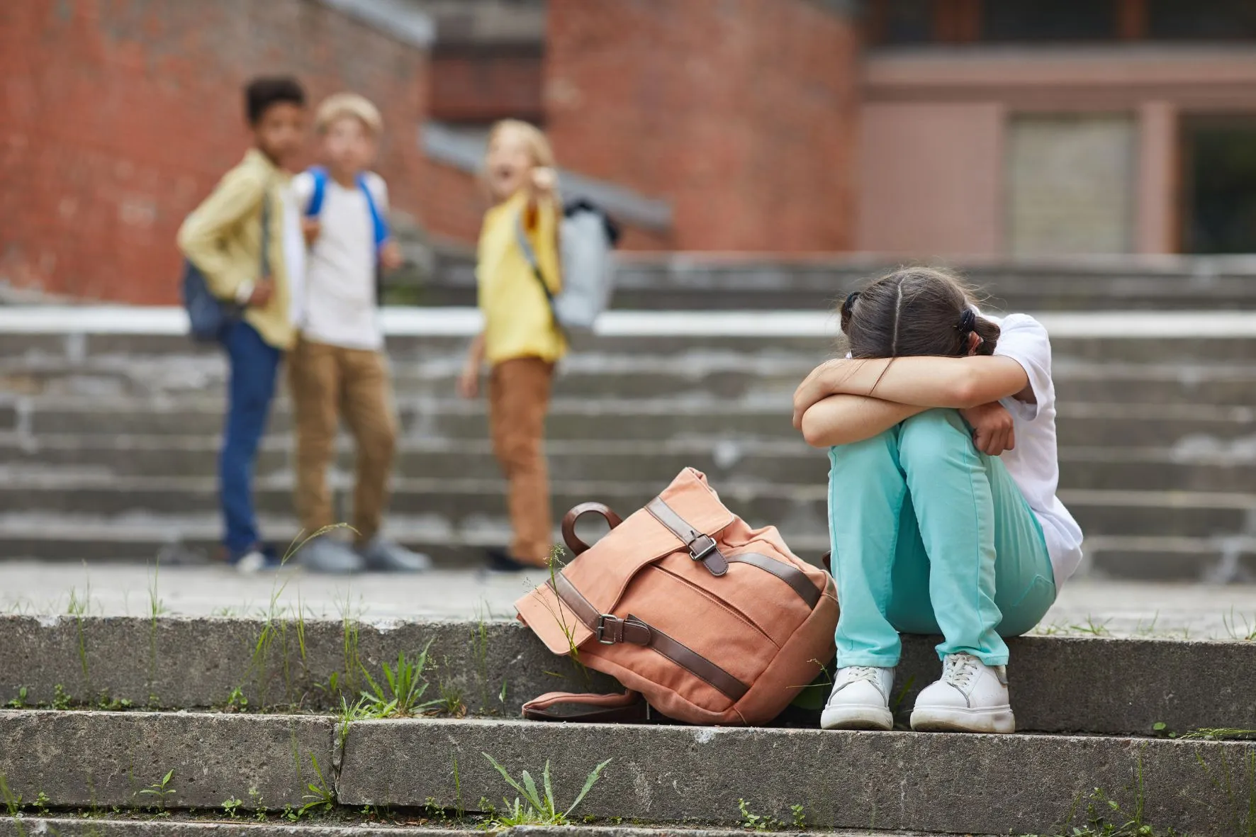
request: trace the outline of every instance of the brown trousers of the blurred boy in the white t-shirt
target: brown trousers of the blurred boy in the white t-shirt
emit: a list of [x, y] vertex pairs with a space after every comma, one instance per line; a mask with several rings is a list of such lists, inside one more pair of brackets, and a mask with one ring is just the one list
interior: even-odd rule
[[288, 359], [296, 411], [296, 514], [305, 534], [338, 523], [327, 486], [340, 417], [358, 449], [353, 528], [358, 544], [379, 532], [397, 445], [392, 385], [381, 352], [299, 339]]

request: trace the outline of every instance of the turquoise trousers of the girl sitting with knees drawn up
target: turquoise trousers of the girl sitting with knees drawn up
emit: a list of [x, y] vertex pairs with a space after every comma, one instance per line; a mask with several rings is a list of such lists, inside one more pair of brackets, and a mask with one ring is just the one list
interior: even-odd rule
[[1042, 528], [956, 410], [929, 410], [829, 450], [838, 666], [896, 666], [899, 633], [941, 633], [938, 656], [1007, 662], [1055, 601]]

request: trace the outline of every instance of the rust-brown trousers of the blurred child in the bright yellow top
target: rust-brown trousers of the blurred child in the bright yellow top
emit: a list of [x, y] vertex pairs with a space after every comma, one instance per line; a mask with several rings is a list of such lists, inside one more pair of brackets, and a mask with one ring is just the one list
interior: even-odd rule
[[536, 566], [548, 563], [554, 547], [544, 450], [553, 380], [554, 364], [539, 357], [501, 361], [489, 378], [492, 451], [509, 484], [510, 554]]

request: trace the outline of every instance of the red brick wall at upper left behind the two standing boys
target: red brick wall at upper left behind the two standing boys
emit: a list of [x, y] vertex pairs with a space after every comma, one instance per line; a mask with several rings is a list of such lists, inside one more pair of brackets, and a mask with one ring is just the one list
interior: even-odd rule
[[311, 0], [0, 1], [0, 280], [173, 302], [175, 232], [247, 147], [257, 73], [371, 97], [378, 168], [420, 211], [422, 50]]

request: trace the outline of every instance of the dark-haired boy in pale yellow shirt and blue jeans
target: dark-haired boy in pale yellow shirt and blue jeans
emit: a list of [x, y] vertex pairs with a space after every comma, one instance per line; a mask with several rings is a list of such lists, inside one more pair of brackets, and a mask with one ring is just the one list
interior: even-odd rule
[[[241, 572], [279, 566], [261, 542], [252, 505], [252, 470], [266, 429], [275, 376], [294, 338], [293, 300], [304, 270], [300, 219], [290, 176], [305, 137], [305, 92], [291, 78], [259, 78], [245, 88], [252, 148], [188, 215], [178, 245], [219, 298], [244, 312], [224, 331], [230, 366], [227, 415], [219, 457], [219, 495], [227, 561]], [[269, 275], [263, 275], [263, 219]]]

